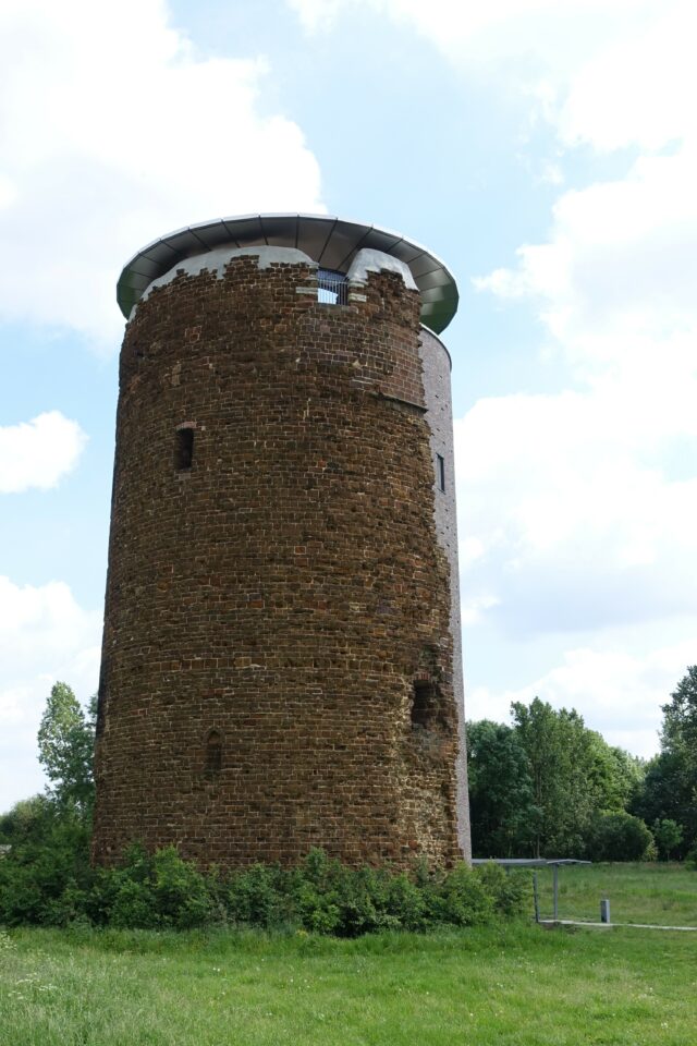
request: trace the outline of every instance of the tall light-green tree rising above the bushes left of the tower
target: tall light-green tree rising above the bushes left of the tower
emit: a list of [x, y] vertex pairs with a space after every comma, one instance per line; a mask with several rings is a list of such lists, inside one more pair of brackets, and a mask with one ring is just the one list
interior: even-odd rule
[[96, 701], [87, 716], [66, 683], [54, 683], [38, 732], [39, 763], [60, 806], [89, 812], [94, 802], [93, 756]]

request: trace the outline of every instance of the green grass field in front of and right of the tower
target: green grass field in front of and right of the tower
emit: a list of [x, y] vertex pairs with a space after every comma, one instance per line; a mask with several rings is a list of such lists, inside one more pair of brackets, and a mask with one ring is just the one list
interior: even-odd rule
[[[697, 873], [579, 872], [562, 873], [561, 915], [572, 902], [596, 908], [599, 884], [635, 921], [670, 913], [682, 923], [695, 912]], [[521, 923], [357, 940], [83, 928], [0, 936], [2, 1046], [684, 1046], [697, 1041], [696, 999], [697, 934]]]

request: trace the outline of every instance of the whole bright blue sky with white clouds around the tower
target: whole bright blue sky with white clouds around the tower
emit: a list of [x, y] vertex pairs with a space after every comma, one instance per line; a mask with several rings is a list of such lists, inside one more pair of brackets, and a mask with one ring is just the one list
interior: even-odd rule
[[681, 0], [0, 0], [0, 810], [97, 688], [123, 265], [223, 216], [460, 288], [466, 710], [650, 756], [697, 661], [697, 63]]

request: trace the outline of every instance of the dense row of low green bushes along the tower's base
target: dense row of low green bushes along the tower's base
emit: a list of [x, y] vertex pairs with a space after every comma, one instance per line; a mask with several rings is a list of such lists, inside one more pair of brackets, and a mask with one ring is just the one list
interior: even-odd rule
[[[0, 861], [0, 923], [66, 925], [75, 920], [124, 928], [187, 929], [213, 923], [356, 937], [379, 929], [474, 926], [531, 909], [529, 877], [497, 865], [412, 875], [348, 868], [313, 850], [292, 868], [252, 865], [200, 872], [169, 847], [134, 844], [118, 867], [53, 878], [21, 853]], [[84, 871], [84, 869], [83, 869]]]

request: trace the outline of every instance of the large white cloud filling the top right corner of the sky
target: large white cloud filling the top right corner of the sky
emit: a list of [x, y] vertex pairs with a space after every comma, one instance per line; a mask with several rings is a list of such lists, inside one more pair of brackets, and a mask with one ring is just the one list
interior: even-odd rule
[[[527, 107], [560, 143], [649, 150], [694, 125], [695, 9], [688, 0], [286, 0], [310, 34], [340, 19], [411, 27], [452, 68]], [[537, 157], [540, 166], [540, 158]], [[541, 180], [561, 184], [559, 163]]]

